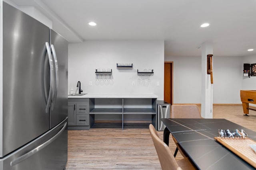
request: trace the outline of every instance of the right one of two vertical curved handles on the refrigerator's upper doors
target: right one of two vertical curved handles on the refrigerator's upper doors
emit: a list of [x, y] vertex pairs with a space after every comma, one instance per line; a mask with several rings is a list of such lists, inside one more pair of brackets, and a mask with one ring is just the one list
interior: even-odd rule
[[58, 71], [58, 60], [56, 56], [56, 51], [54, 49], [54, 45], [51, 45], [51, 50], [52, 50], [52, 58], [54, 60], [54, 65], [55, 65], [55, 87], [53, 87], [53, 94], [52, 94], [52, 107], [51, 110], [54, 109], [54, 104], [56, 102], [57, 98], [57, 93], [58, 93], [58, 85], [59, 85], [59, 71]]

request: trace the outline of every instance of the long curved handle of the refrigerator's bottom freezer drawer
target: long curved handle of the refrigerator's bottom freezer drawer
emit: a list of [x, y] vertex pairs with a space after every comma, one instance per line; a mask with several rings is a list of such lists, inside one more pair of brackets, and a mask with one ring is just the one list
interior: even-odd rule
[[62, 129], [60, 129], [60, 131], [54, 135], [54, 137], [52, 137], [51, 139], [49, 139], [48, 141], [46, 141], [45, 143], [43, 143], [42, 145], [39, 145], [38, 147], [36, 147], [33, 150], [30, 150], [29, 152], [27, 152], [26, 154], [16, 158], [15, 160], [12, 160], [10, 165], [14, 166], [20, 162], [22, 162], [23, 160], [29, 158], [30, 156], [32, 156], [33, 154], [35, 154], [36, 152], [38, 152], [39, 150], [43, 149], [44, 147], [46, 147], [47, 145], [49, 145], [50, 143], [52, 143], [55, 139], [58, 138], [58, 136], [60, 136], [60, 134], [65, 130], [67, 126], [67, 122], [64, 124], [64, 126], [62, 127]]

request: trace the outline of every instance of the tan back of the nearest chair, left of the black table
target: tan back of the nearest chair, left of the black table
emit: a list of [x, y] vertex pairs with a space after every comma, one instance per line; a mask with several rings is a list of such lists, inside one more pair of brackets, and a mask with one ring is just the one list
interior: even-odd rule
[[159, 138], [156, 129], [152, 124], [149, 125], [150, 135], [154, 142], [156, 152], [162, 170], [177, 170], [179, 167], [169, 147]]

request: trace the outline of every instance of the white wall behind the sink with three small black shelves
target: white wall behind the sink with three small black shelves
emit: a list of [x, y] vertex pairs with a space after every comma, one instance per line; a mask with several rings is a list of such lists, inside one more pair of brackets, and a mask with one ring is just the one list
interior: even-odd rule
[[[117, 70], [116, 63], [133, 63], [132, 70]], [[114, 84], [96, 85], [96, 68], [112, 68]], [[137, 69], [154, 69], [150, 84], [138, 84]], [[100, 79], [101, 76], [98, 76]], [[105, 79], [105, 76], [103, 76]], [[85, 41], [68, 46], [68, 89], [83, 93], [154, 93], [164, 98], [164, 41]], [[89, 86], [89, 82], [92, 86]], [[135, 86], [132, 86], [132, 82]], [[156, 86], [160, 82], [160, 86]]]

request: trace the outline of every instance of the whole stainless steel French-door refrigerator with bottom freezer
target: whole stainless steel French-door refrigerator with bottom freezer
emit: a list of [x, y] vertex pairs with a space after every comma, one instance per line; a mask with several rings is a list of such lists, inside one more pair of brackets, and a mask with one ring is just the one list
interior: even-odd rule
[[0, 170], [62, 170], [68, 42], [5, 2], [0, 10]]

